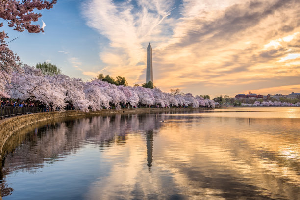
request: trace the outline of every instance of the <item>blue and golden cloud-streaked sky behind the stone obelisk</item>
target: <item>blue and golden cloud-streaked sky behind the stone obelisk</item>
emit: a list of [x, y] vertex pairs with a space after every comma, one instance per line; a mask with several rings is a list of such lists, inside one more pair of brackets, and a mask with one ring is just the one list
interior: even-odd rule
[[[98, 74], [193, 95], [300, 92], [299, 0], [58, 0], [36, 24], [5, 25], [9, 47], [28, 65], [52, 62], [88, 81]], [[9, 41], [9, 40], [7, 40]]]

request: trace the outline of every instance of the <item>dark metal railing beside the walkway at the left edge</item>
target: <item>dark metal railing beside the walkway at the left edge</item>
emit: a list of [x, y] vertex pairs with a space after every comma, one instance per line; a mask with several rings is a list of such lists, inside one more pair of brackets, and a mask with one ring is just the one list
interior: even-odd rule
[[38, 107], [0, 107], [0, 118], [38, 112]]

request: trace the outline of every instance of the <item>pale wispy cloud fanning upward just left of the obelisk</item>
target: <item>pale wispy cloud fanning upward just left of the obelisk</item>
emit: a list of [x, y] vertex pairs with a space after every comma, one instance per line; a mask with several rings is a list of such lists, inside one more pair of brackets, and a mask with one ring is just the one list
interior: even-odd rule
[[[145, 66], [138, 65], [146, 59], [146, 44], [168, 39], [166, 27], [172, 10], [171, 0], [131, 1], [114, 3], [111, 0], [92, 0], [87, 3], [87, 24], [110, 41], [102, 48], [100, 59], [107, 64], [112, 75], [124, 75], [137, 81]], [[134, 73], [133, 73], [134, 72]]]

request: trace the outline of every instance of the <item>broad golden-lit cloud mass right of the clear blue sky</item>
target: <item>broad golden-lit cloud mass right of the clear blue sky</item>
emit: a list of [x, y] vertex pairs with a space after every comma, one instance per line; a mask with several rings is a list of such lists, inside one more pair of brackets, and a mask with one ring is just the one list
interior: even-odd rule
[[109, 40], [99, 56], [111, 75], [145, 82], [150, 42], [154, 85], [213, 96], [300, 76], [290, 59], [300, 53], [298, 10], [292, 0], [91, 0], [83, 12]]

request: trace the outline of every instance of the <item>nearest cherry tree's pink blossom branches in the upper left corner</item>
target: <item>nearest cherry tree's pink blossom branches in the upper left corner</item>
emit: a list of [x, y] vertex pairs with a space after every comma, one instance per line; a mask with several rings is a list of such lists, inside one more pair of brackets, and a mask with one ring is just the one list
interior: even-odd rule
[[[33, 12], [34, 9], [50, 9], [57, 0], [51, 2], [46, 0], [0, 0], [0, 18], [7, 22], [9, 27], [22, 32], [27, 30], [29, 33], [43, 32], [40, 25], [32, 25], [31, 22], [36, 22], [42, 16], [40, 13]], [[3, 23], [0, 23], [3, 27]], [[13, 71], [21, 70], [21, 62], [19, 57], [14, 54], [9, 48], [6, 39], [7, 34], [0, 32], [0, 97], [8, 97], [5, 89], [5, 84], [9, 83], [12, 78]], [[14, 40], [14, 39], [13, 39]]]

